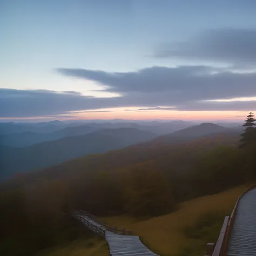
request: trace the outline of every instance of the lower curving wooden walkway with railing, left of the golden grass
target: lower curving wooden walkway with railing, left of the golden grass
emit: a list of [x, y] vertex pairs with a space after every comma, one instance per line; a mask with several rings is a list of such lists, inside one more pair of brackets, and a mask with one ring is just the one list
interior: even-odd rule
[[[136, 235], [106, 226], [95, 216], [85, 211], [73, 212], [73, 217], [82, 221], [95, 233], [102, 235], [109, 244], [111, 256], [159, 256], [151, 252]], [[122, 234], [123, 233], [123, 234]]]

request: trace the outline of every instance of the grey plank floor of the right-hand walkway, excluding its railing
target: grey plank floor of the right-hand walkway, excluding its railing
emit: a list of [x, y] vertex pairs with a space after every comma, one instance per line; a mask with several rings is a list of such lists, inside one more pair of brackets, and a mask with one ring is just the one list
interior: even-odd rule
[[246, 192], [238, 202], [226, 255], [256, 255], [256, 188]]

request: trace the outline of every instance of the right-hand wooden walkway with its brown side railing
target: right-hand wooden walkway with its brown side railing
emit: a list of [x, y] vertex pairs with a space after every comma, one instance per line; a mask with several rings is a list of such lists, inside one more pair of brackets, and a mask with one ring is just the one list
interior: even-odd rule
[[217, 243], [208, 243], [207, 256], [256, 256], [256, 185], [235, 203], [226, 216]]

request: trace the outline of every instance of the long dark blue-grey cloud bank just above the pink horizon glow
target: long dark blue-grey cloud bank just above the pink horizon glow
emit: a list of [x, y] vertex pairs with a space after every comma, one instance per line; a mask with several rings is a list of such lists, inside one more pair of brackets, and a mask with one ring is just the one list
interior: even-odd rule
[[211, 66], [154, 66], [123, 73], [84, 69], [58, 71], [68, 76], [93, 79], [105, 85], [105, 91], [120, 96], [97, 98], [76, 92], [0, 89], [0, 117], [38, 117], [134, 106], [138, 111], [145, 107], [147, 110], [163, 110], [158, 106], [174, 106], [174, 110], [186, 111], [256, 109], [255, 101], [207, 102], [256, 97], [256, 73], [234, 73]]

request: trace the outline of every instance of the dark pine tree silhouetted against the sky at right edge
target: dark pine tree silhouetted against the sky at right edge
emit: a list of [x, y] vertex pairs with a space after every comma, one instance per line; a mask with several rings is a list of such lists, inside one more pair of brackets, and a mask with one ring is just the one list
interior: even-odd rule
[[244, 133], [241, 134], [242, 138], [240, 140], [240, 147], [246, 147], [253, 143], [256, 143], [256, 124], [254, 123], [254, 114], [250, 112], [242, 126], [245, 126]]

